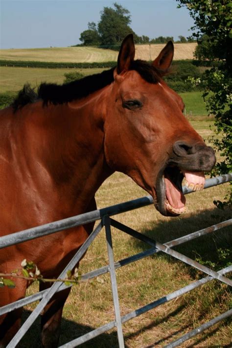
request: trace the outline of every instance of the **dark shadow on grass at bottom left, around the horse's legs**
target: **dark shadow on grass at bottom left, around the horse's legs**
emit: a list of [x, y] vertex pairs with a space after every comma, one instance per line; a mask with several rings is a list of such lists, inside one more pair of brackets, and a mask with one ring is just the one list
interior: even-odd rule
[[[31, 314], [30, 311], [24, 310], [23, 311], [23, 320], [22, 323], [29, 317]], [[60, 335], [60, 341], [59, 346], [64, 345], [79, 336], [82, 336], [92, 330], [94, 330], [96, 327], [92, 327], [90, 325], [83, 325], [78, 324], [76, 322], [73, 322], [71, 320], [67, 320], [62, 318], [61, 323], [61, 335]], [[18, 348], [41, 348], [41, 338], [40, 338], [40, 318], [37, 318], [36, 321], [32, 324], [31, 328], [28, 330], [28, 332], [25, 334], [23, 339], [21, 340], [20, 344], [17, 346]], [[105, 347], [112, 347], [117, 348], [118, 342], [117, 342], [117, 333], [116, 329], [115, 331], [112, 331], [110, 333], [106, 332], [101, 334], [100, 336], [94, 338], [93, 340], [90, 340], [89, 342], [83, 343], [80, 347], [83, 348], [105, 348]], [[127, 348], [127, 345], [125, 345]]]

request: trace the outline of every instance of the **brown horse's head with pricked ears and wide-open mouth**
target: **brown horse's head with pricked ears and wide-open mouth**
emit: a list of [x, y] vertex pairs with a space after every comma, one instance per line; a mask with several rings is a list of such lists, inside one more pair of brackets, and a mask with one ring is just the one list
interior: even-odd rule
[[153, 196], [165, 216], [185, 212], [182, 180], [198, 191], [215, 164], [212, 148], [186, 120], [181, 97], [162, 80], [174, 48], [167, 43], [152, 64], [134, 60], [133, 35], [122, 42], [107, 100], [104, 150], [108, 165]]

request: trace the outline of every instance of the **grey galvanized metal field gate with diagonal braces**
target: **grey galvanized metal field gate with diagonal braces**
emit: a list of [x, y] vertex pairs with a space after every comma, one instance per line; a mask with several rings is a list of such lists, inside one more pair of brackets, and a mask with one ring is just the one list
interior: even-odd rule
[[[222, 176], [218, 176], [212, 179], [208, 179], [205, 184], [205, 188], [216, 186], [219, 184], [222, 184], [224, 182], [228, 182], [232, 180], [232, 174], [225, 174]], [[191, 192], [191, 190], [184, 188], [184, 194], [188, 194]], [[70, 341], [69, 343], [66, 343], [65, 345], [61, 347], [76, 347], [86, 341], [91, 340], [92, 338], [102, 334], [103, 332], [106, 332], [114, 327], [117, 329], [117, 336], [118, 336], [118, 345], [120, 348], [124, 347], [124, 340], [123, 340], [123, 332], [122, 332], [122, 323], [125, 323], [167, 301], [170, 301], [174, 298], [177, 298], [183, 294], [186, 294], [187, 292], [201, 286], [202, 284], [205, 284], [213, 279], [218, 279], [228, 285], [232, 285], [232, 280], [225, 276], [226, 273], [229, 273], [232, 271], [232, 266], [227, 267], [225, 269], [222, 269], [218, 272], [215, 272], [211, 269], [209, 269], [206, 266], [203, 266], [199, 264], [198, 262], [190, 259], [189, 257], [175, 251], [172, 249], [172, 247], [180, 245], [184, 242], [190, 241], [192, 239], [198, 238], [200, 236], [203, 236], [205, 234], [208, 234], [210, 232], [215, 232], [219, 230], [220, 228], [224, 226], [229, 226], [232, 224], [232, 219], [224, 221], [219, 224], [215, 224], [213, 226], [204, 228], [202, 230], [196, 231], [194, 233], [188, 234], [184, 237], [172, 240], [170, 242], [167, 242], [165, 244], [161, 244], [149, 237], [144, 236], [143, 234], [139, 233], [138, 231], [135, 231], [134, 229], [125, 226], [124, 224], [121, 224], [117, 222], [116, 220], [112, 219], [111, 216], [123, 213], [132, 209], [137, 209], [139, 207], [143, 207], [149, 204], [153, 203], [153, 199], [151, 196], [143, 197], [140, 199], [134, 199], [128, 202], [116, 204], [107, 208], [94, 210], [92, 212], [81, 214], [75, 217], [71, 217], [68, 219], [60, 220], [54, 223], [45, 224], [42, 226], [38, 226], [35, 228], [30, 228], [21, 232], [13, 233], [8, 236], [3, 236], [0, 238], [0, 249], [5, 248], [14, 244], [22, 243], [34, 238], [42, 237], [51, 233], [55, 233], [57, 231], [61, 231], [66, 228], [79, 226], [82, 224], [87, 224], [90, 222], [94, 222], [96, 220], [100, 220], [99, 224], [95, 227], [89, 238], [85, 241], [85, 243], [82, 245], [82, 247], [76, 252], [76, 254], [73, 256], [69, 264], [66, 266], [66, 268], [63, 270], [63, 272], [60, 274], [59, 278], [64, 279], [66, 277], [67, 271], [71, 270], [75, 267], [76, 263], [80, 260], [80, 258], [83, 256], [83, 254], [86, 252], [88, 247], [93, 242], [94, 238], [98, 235], [100, 230], [104, 227], [106, 232], [106, 241], [107, 241], [107, 249], [108, 249], [108, 257], [109, 257], [109, 265], [99, 268], [97, 270], [94, 270], [92, 272], [86, 273], [82, 275], [82, 279], [91, 279], [95, 276], [99, 276], [100, 274], [104, 274], [109, 272], [111, 276], [111, 284], [112, 284], [112, 294], [113, 294], [113, 300], [114, 300], [114, 307], [115, 307], [115, 320], [112, 322], [109, 322], [101, 327], [96, 328], [95, 330], [76, 338], [75, 340]], [[146, 251], [142, 251], [136, 255], [133, 255], [131, 257], [128, 257], [126, 259], [120, 260], [115, 262], [114, 261], [114, 254], [113, 254], [113, 246], [112, 246], [112, 236], [111, 236], [111, 226], [116, 227], [117, 229], [139, 239], [140, 241], [143, 241], [147, 243], [151, 248], [147, 249]], [[197, 280], [177, 291], [174, 291], [173, 293], [170, 293], [162, 298], [159, 298], [158, 300], [151, 302], [141, 308], [138, 308], [135, 311], [132, 311], [124, 316], [120, 315], [120, 306], [118, 301], [118, 294], [117, 294], [117, 282], [116, 282], [116, 269], [122, 266], [125, 266], [131, 262], [137, 261], [139, 259], [142, 259], [146, 256], [152, 255], [157, 252], [164, 252], [168, 255], [171, 255], [178, 260], [181, 260], [185, 262], [187, 265], [190, 265], [192, 267], [195, 267], [196, 269], [204, 272], [207, 274], [206, 277]], [[47, 302], [52, 298], [52, 296], [63, 289], [67, 288], [67, 286], [63, 282], [55, 282], [49, 289], [44, 290], [42, 292], [39, 292], [37, 294], [34, 294], [32, 296], [20, 299], [14, 303], [11, 303], [9, 305], [6, 305], [4, 307], [0, 308], [0, 315], [10, 312], [16, 308], [20, 308], [26, 304], [29, 304], [31, 302], [34, 302], [36, 300], [40, 300], [37, 307], [34, 309], [34, 311], [30, 314], [30, 316], [27, 318], [27, 320], [23, 323], [20, 330], [17, 332], [17, 334], [14, 336], [12, 341], [9, 343], [7, 347], [13, 348], [16, 347], [16, 345], [20, 342], [23, 335], [26, 333], [26, 331], [30, 328], [32, 323], [36, 320], [36, 318], [40, 315], [43, 308], [46, 306]], [[185, 342], [189, 338], [197, 335], [198, 333], [202, 332], [203, 330], [206, 330], [210, 326], [214, 325], [215, 323], [218, 323], [219, 321], [228, 318], [232, 315], [232, 309], [228, 310], [227, 312], [221, 314], [220, 316], [214, 318], [213, 320], [209, 321], [208, 323], [205, 323], [198, 328], [188, 332], [186, 335], [181, 337], [180, 339], [172, 342], [166, 347], [177, 347], [181, 343]]]

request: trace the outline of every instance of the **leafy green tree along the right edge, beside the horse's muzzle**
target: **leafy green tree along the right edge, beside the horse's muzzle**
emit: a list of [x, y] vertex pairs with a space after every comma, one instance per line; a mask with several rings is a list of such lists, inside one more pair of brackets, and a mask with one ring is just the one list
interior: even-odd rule
[[[198, 40], [195, 55], [214, 60], [216, 67], [203, 75], [206, 101], [210, 114], [215, 115], [216, 134], [211, 142], [224, 159], [216, 164], [214, 174], [232, 170], [232, 2], [231, 0], [177, 0], [187, 6], [194, 20], [191, 28]], [[232, 204], [232, 192], [229, 203]]]

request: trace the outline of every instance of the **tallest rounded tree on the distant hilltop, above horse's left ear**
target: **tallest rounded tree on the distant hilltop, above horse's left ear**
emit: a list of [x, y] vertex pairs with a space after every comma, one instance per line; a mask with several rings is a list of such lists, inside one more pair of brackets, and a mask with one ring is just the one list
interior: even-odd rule
[[126, 35], [133, 33], [129, 26], [131, 23], [130, 12], [116, 2], [114, 7], [104, 7], [101, 11], [98, 33], [103, 46], [118, 45]]

